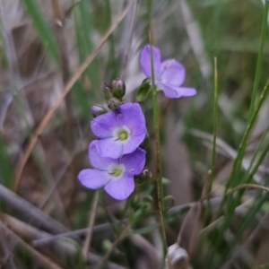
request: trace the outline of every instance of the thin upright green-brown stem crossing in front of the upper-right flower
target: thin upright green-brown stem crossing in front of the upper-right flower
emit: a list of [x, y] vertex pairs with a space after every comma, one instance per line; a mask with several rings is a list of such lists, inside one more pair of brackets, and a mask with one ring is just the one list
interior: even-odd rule
[[[151, 40], [151, 33], [150, 33], [150, 40]], [[166, 235], [165, 235], [164, 221], [163, 221], [163, 214], [162, 214], [163, 188], [162, 188], [162, 169], [161, 169], [161, 145], [160, 145], [159, 112], [158, 112], [157, 93], [156, 93], [156, 85], [155, 85], [155, 77], [154, 77], [154, 63], [153, 63], [153, 55], [152, 55], [152, 45], [151, 45], [151, 66], [152, 66], [152, 104], [153, 104], [156, 152], [157, 152], [157, 175], [156, 175], [156, 178], [157, 178], [157, 181], [156, 181], [156, 183], [157, 183], [157, 199], [158, 199], [159, 216], [160, 216], [160, 221], [161, 221], [163, 254], [165, 257], [166, 253], [167, 253], [167, 240], [166, 240]]]

